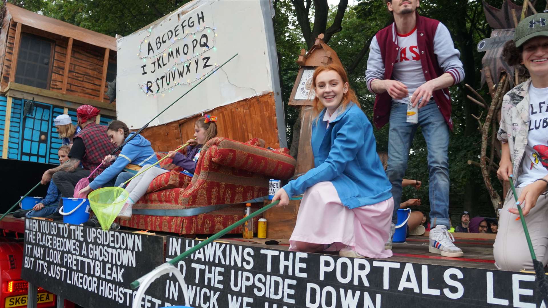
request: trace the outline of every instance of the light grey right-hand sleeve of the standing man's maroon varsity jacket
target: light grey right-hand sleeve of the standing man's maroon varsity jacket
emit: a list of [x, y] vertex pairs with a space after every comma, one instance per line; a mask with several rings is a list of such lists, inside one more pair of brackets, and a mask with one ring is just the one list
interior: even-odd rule
[[460, 52], [455, 48], [449, 30], [441, 22], [439, 22], [434, 35], [434, 54], [439, 67], [453, 77], [453, 84], [463, 81], [464, 69], [463, 63], [459, 59]]

